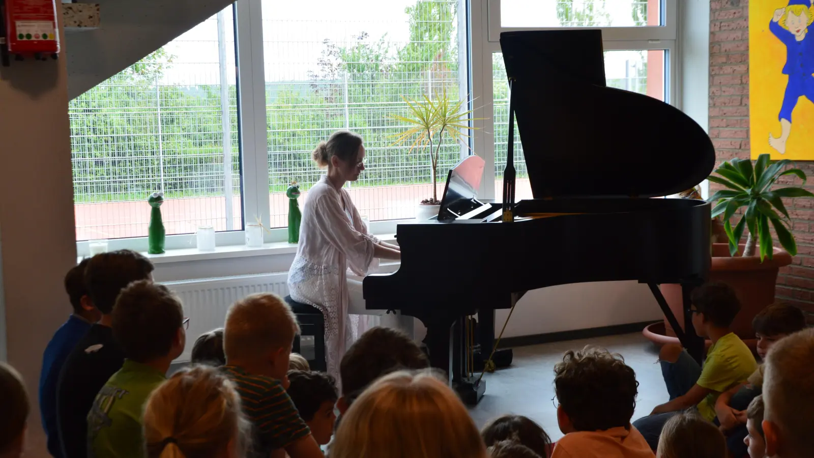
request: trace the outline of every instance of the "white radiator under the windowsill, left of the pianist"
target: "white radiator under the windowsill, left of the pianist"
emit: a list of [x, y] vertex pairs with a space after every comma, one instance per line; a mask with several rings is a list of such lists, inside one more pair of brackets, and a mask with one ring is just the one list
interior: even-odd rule
[[164, 285], [181, 298], [184, 315], [190, 319], [186, 331], [186, 348], [177, 363], [190, 360], [195, 339], [203, 332], [222, 328], [226, 310], [234, 302], [253, 293], [288, 294], [288, 272], [260, 275], [168, 281]]

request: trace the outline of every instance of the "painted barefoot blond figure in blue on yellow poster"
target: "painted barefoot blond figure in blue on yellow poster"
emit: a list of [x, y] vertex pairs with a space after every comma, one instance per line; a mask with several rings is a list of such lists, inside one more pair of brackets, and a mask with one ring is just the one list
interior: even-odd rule
[[781, 154], [786, 153], [786, 141], [791, 134], [791, 112], [800, 97], [814, 103], [814, 38], [808, 37], [808, 26], [814, 20], [814, 0], [789, 0], [789, 6], [778, 8], [768, 29], [786, 45], [786, 66], [783, 74], [789, 76], [786, 93], [777, 119], [781, 134], [768, 135], [768, 144]]

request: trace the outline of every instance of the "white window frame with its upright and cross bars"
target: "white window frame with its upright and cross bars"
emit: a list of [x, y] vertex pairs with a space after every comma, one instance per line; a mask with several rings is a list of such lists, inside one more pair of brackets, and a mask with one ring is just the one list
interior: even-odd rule
[[[663, 0], [662, 26], [607, 27], [602, 28], [603, 46], [606, 51], [664, 50], [664, 92], [667, 103], [681, 108], [681, 75], [676, 49], [676, 30], [679, 16], [678, 0]], [[265, 67], [263, 58], [263, 22], [261, 0], [237, 0], [234, 8], [235, 60], [237, 62], [238, 129], [241, 156], [241, 183], [243, 188], [243, 224], [257, 221], [268, 228], [271, 220], [269, 207], [269, 170], [267, 113], [265, 98]], [[486, 161], [479, 197], [485, 200], [495, 196], [495, 149], [494, 122], [492, 119], [492, 53], [500, 52], [498, 42], [501, 31], [584, 29], [584, 28], [501, 28], [501, 0], [459, 0], [458, 33], [466, 37], [466, 46], [458, 46], [459, 56], [468, 58], [466, 72], [462, 72], [461, 95], [466, 96], [473, 110], [475, 121], [471, 131], [470, 147], [462, 145], [462, 157], [474, 152]], [[461, 14], [463, 13], [463, 14]], [[145, 206], [145, 211], [146, 206]], [[375, 234], [396, 232], [399, 222], [409, 220], [386, 220], [370, 222]], [[287, 227], [265, 230], [265, 243], [287, 241]], [[245, 244], [245, 231], [219, 231], [216, 244]], [[79, 256], [89, 255], [90, 240], [77, 241]], [[195, 234], [167, 236], [165, 249], [195, 248]], [[147, 251], [147, 237], [108, 240], [108, 249], [134, 249]]]

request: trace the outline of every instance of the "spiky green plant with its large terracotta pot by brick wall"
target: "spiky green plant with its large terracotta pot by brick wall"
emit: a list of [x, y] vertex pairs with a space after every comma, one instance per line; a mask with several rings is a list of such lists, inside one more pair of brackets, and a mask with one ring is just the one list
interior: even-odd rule
[[[789, 160], [771, 162], [768, 154], [761, 154], [754, 165], [747, 159], [724, 162], [708, 178], [725, 187], [709, 201], [714, 205], [712, 218], [723, 218], [728, 239], [727, 243], [712, 244], [710, 280], [723, 281], [737, 291], [741, 311], [732, 328], [745, 341], [754, 342], [752, 319], [774, 301], [777, 273], [797, 254], [794, 234], [789, 230], [791, 218], [782, 199], [814, 197], [802, 186], [776, 186], [777, 179], [784, 175], [794, 175], [803, 180], [803, 184], [806, 182], [803, 170], [786, 168], [790, 164]], [[740, 209], [744, 210], [738, 212]], [[733, 225], [734, 220], [737, 222]], [[772, 228], [782, 248], [774, 246]], [[744, 231], [746, 242], [742, 244]], [[662, 292], [683, 326], [681, 287], [663, 284]], [[651, 340], [664, 343], [653, 326], [650, 325], [645, 334]], [[665, 322], [664, 326], [667, 328], [664, 333], [671, 335], [669, 324]]]

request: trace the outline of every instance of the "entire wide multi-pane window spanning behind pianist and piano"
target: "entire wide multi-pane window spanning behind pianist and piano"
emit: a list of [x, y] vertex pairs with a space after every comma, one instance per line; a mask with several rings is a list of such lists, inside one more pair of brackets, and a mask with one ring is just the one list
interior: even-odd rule
[[[501, 198], [508, 85], [500, 33], [602, 28], [608, 86], [676, 97], [677, 0], [238, 0], [137, 64], [72, 100], [77, 240], [146, 249], [151, 192], [163, 191], [168, 249], [195, 246], [199, 226], [242, 244], [260, 222], [286, 240], [286, 188], [322, 175], [313, 149], [332, 132], [365, 139], [348, 190], [374, 231], [413, 218], [430, 197], [429, 153], [394, 145], [405, 98], [447, 94], [473, 110], [466, 144], [445, 140], [449, 168], [487, 163], [483, 199]], [[575, 56], [575, 59], [579, 56]], [[515, 138], [517, 198], [531, 196]], [[87, 253], [85, 242], [80, 253]]]

